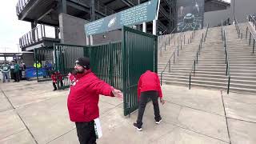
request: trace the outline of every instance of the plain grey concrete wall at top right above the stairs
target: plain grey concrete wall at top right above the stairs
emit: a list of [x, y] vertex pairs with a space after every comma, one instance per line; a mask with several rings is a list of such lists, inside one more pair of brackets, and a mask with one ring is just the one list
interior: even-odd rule
[[232, 21], [233, 12], [239, 23], [247, 22], [246, 16], [248, 14], [256, 13], [256, 0], [231, 0], [230, 18], [232, 19]]

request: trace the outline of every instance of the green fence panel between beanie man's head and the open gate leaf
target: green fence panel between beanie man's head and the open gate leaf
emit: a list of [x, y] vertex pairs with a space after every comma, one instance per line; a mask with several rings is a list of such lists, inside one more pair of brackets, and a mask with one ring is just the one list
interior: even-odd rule
[[90, 51], [90, 66], [94, 74], [120, 90], [122, 90], [121, 46], [121, 42], [111, 42], [88, 47]]

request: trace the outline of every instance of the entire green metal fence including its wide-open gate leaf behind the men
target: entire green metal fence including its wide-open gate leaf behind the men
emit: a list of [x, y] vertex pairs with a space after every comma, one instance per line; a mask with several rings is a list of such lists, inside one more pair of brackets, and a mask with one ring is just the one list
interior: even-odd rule
[[[110, 42], [94, 46], [54, 45], [56, 70], [64, 76], [74, 70], [74, 62], [80, 57], [90, 58], [90, 68], [105, 82], [122, 90], [124, 115], [138, 109], [138, 78], [146, 70], [158, 72], [157, 36], [142, 33], [124, 26], [122, 42]], [[66, 77], [65, 88], [70, 86]]]

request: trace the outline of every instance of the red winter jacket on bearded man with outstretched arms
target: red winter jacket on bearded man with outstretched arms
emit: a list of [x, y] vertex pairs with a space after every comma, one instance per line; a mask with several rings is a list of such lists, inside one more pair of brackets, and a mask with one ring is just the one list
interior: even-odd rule
[[70, 76], [67, 107], [72, 122], [90, 122], [99, 117], [99, 94], [114, 97], [113, 87], [98, 79], [91, 70]]

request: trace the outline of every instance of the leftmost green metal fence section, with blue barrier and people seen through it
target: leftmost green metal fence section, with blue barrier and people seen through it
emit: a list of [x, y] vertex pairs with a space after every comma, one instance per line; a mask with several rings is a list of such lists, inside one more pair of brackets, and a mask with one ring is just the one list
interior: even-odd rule
[[50, 74], [54, 70], [54, 49], [35, 49], [34, 67], [36, 68], [38, 82], [51, 80]]

